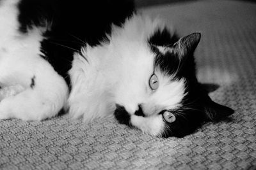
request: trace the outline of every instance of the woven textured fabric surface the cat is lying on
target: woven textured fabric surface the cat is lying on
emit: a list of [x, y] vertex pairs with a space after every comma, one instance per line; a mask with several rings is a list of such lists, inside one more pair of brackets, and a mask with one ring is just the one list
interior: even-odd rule
[[143, 10], [181, 35], [202, 32], [198, 78], [236, 112], [184, 138], [154, 138], [118, 124], [67, 115], [0, 120], [0, 169], [256, 169], [256, 4], [196, 1]]

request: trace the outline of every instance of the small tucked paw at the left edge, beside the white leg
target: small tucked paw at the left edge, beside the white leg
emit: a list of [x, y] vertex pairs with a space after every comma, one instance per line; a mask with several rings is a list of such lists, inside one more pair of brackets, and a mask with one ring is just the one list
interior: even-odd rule
[[0, 102], [10, 96], [15, 96], [24, 90], [22, 85], [12, 85], [8, 87], [1, 87], [0, 89]]

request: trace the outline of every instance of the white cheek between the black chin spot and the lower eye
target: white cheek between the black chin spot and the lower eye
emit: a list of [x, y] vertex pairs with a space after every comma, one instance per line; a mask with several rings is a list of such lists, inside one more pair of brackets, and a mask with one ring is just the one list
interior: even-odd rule
[[131, 124], [152, 136], [161, 136], [162, 132], [164, 131], [164, 121], [162, 115], [152, 115], [150, 117], [132, 115]]

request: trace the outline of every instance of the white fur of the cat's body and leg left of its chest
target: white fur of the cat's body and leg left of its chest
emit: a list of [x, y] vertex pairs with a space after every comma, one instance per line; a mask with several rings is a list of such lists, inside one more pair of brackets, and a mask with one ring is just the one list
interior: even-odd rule
[[[27, 34], [18, 31], [18, 2], [5, 0], [0, 3], [0, 119], [43, 120], [63, 108], [68, 87], [40, 57], [44, 29], [34, 28]], [[15, 92], [6, 92], [8, 87]]]

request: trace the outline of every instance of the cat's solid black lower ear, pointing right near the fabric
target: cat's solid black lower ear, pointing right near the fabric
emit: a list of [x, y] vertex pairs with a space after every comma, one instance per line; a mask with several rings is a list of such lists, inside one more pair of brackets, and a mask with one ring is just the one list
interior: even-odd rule
[[234, 113], [234, 110], [231, 108], [215, 103], [214, 101], [211, 101], [211, 99], [210, 101], [207, 101], [204, 109], [206, 119], [213, 122], [228, 117]]

